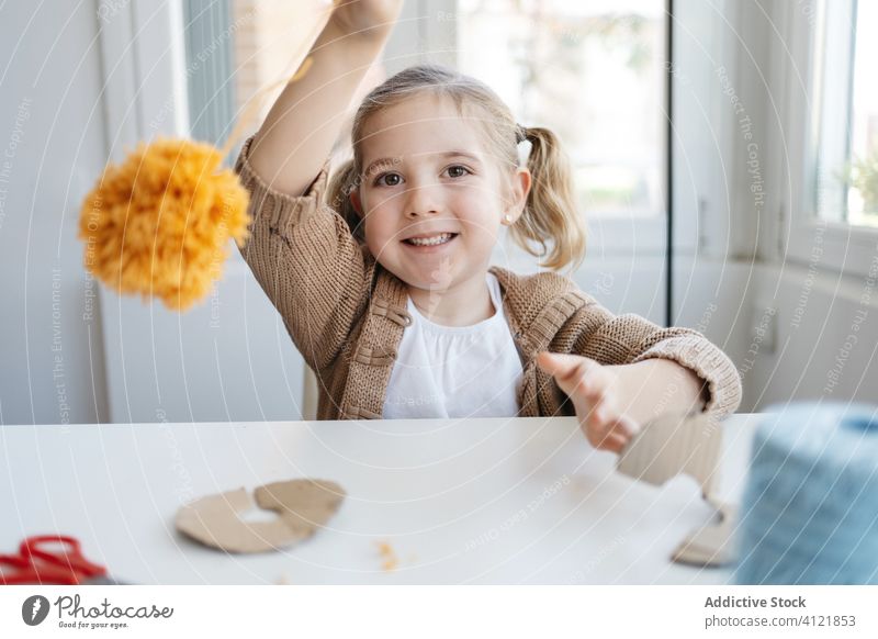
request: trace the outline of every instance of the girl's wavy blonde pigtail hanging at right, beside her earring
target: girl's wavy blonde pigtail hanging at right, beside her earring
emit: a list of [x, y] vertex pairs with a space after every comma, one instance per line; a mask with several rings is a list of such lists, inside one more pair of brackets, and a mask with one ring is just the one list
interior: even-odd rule
[[[528, 169], [532, 183], [525, 214], [510, 227], [513, 239], [536, 257], [548, 254], [542, 267], [561, 270], [570, 265], [575, 269], [585, 258], [586, 229], [577, 212], [570, 159], [548, 128], [520, 128], [518, 139], [531, 144]], [[542, 247], [541, 251], [533, 244]]]

